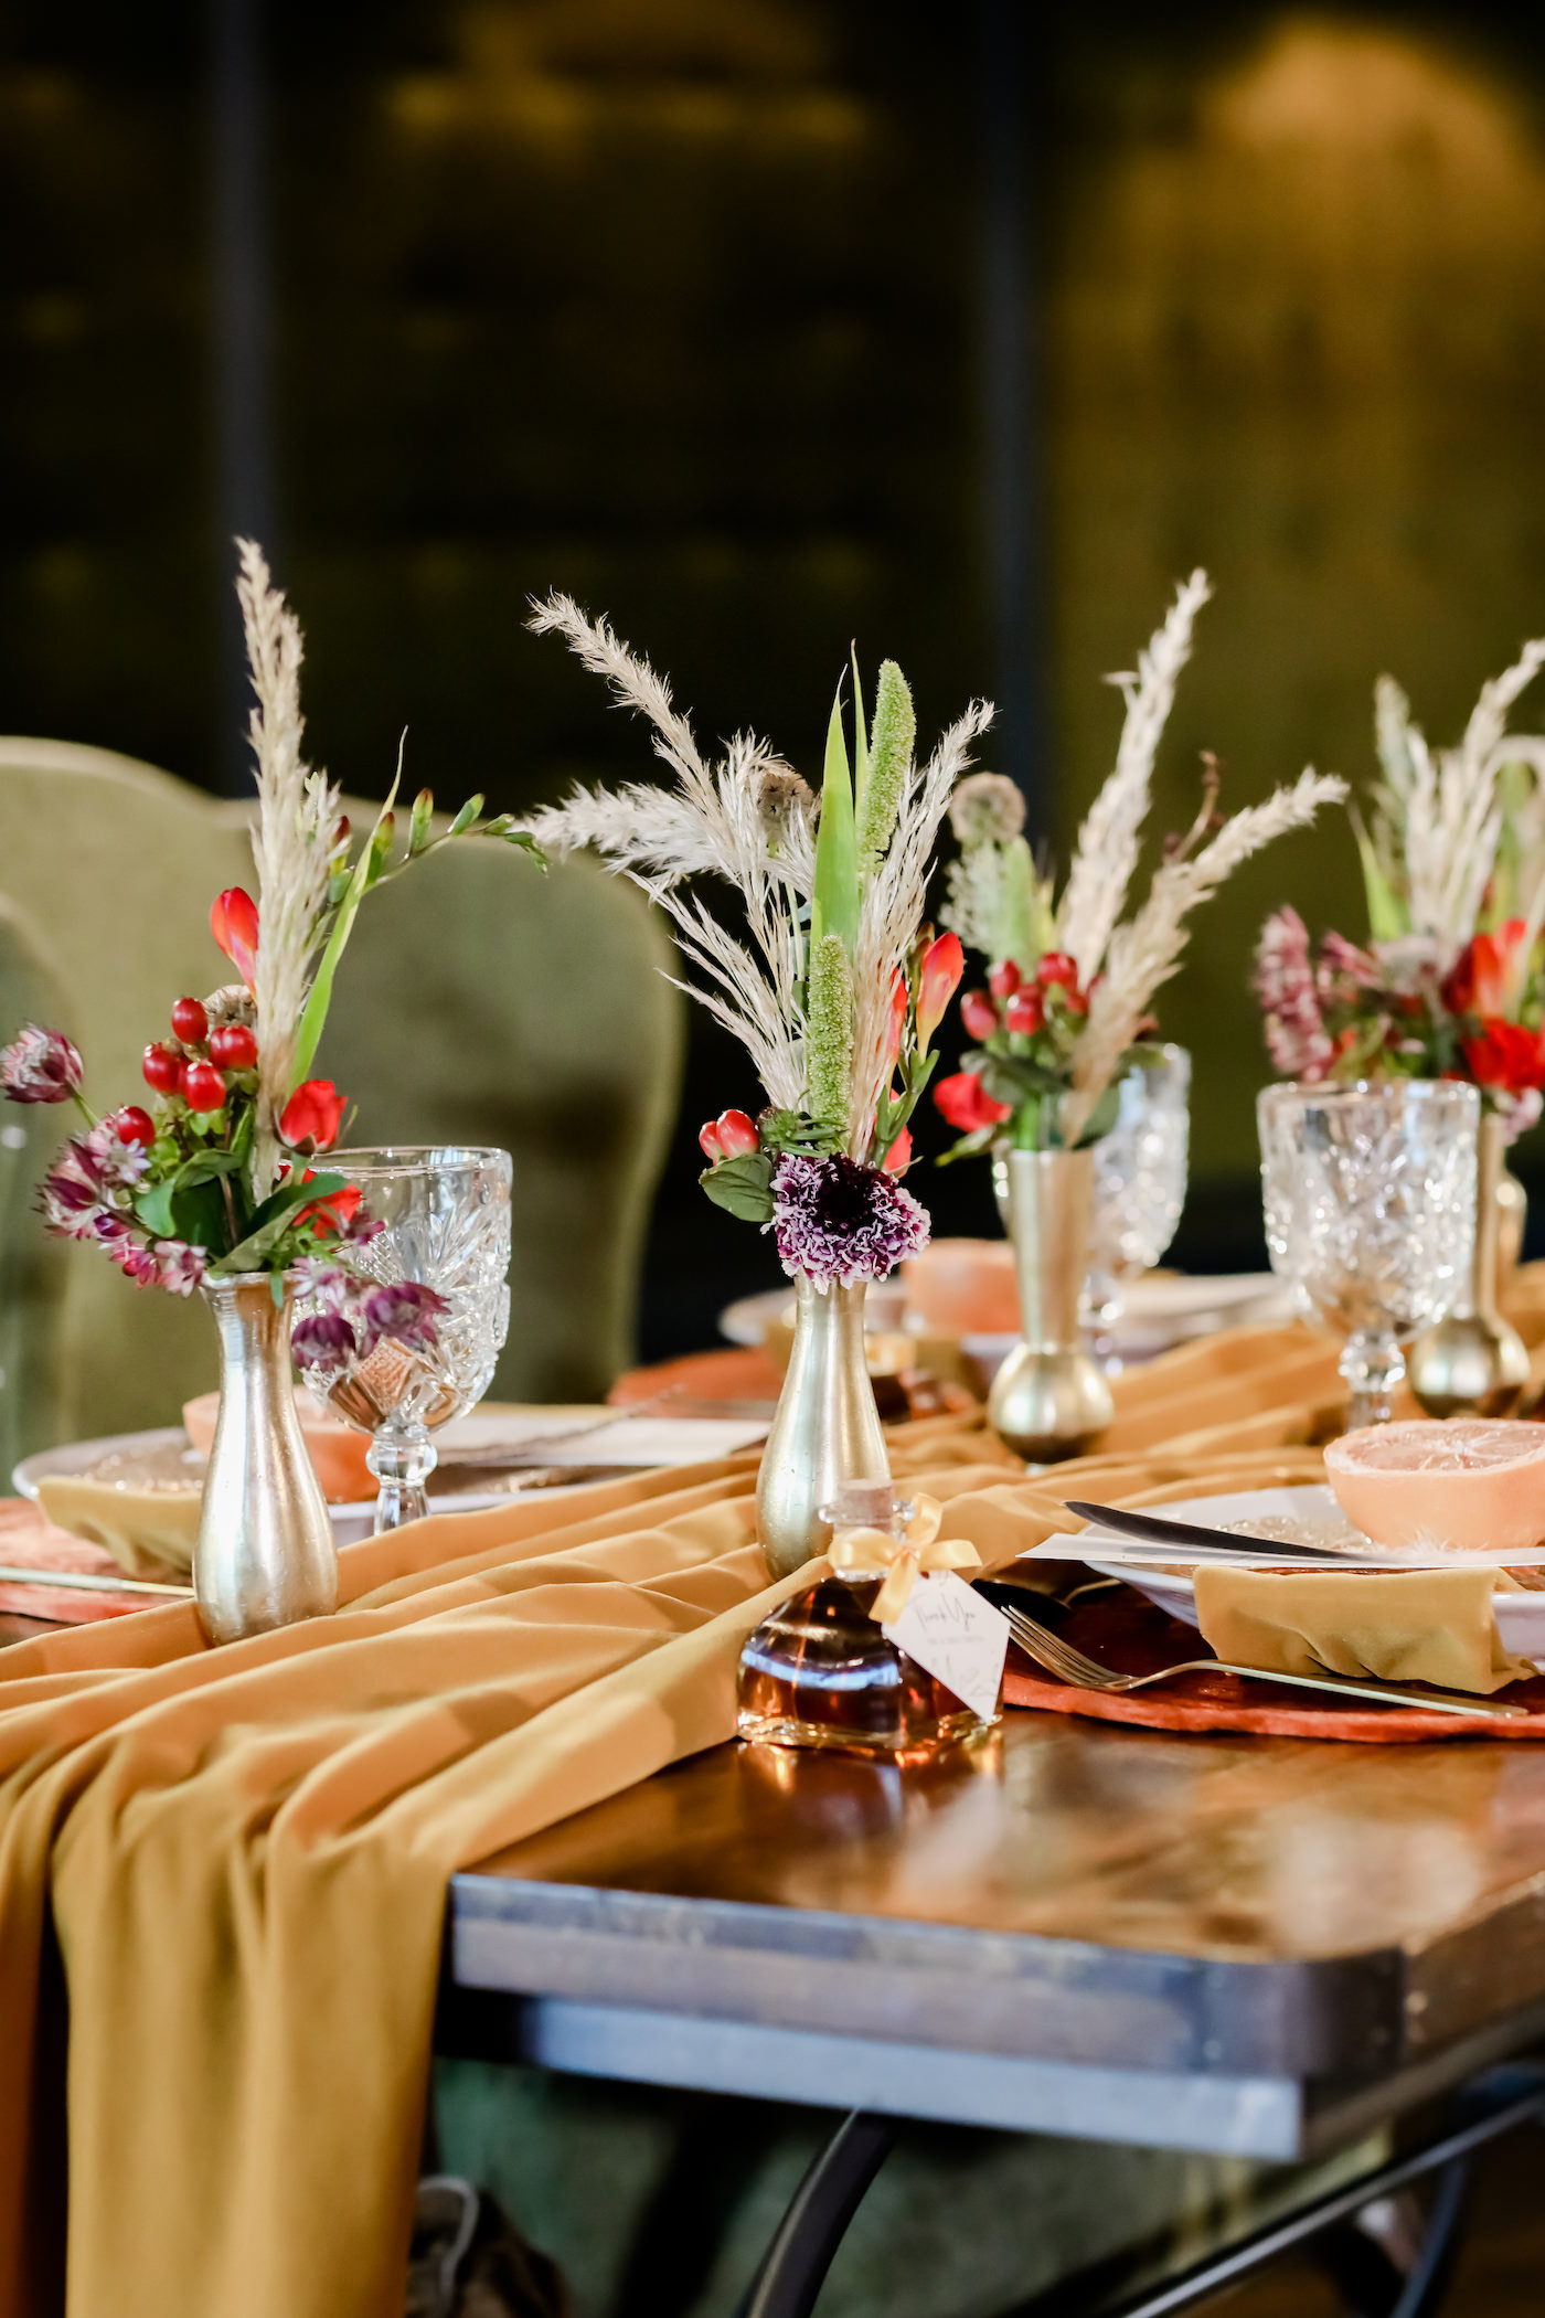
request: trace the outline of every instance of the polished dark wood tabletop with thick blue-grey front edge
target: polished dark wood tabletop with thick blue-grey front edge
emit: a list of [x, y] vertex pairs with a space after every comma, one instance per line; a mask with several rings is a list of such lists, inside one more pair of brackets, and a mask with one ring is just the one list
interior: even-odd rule
[[1295, 2156], [1545, 2033], [1545, 1748], [716, 1748], [459, 1875], [447, 1975], [452, 2044]]

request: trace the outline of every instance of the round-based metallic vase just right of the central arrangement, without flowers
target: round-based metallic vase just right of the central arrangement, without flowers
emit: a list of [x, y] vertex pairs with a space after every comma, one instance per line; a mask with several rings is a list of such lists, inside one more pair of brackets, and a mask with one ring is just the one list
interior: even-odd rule
[[1077, 1456], [1114, 1416], [1084, 1344], [1093, 1150], [1003, 1152], [1003, 1224], [1015, 1247], [1022, 1342], [991, 1379], [987, 1421], [1033, 1463]]

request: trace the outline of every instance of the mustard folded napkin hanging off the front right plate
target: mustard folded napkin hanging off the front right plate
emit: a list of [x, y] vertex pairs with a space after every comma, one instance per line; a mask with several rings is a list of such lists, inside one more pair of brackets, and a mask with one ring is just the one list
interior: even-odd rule
[[1508, 1657], [1492, 1595], [1503, 1569], [1230, 1569], [1195, 1574], [1204, 1641], [1235, 1667], [1371, 1674], [1489, 1697], [1533, 1667]]

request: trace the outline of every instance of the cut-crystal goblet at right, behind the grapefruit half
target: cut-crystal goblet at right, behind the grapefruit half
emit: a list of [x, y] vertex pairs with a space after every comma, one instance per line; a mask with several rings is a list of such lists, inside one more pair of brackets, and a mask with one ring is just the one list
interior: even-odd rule
[[1346, 1337], [1348, 1423], [1387, 1423], [1401, 1340], [1469, 1280], [1480, 1096], [1425, 1078], [1265, 1087], [1255, 1115], [1272, 1270]]

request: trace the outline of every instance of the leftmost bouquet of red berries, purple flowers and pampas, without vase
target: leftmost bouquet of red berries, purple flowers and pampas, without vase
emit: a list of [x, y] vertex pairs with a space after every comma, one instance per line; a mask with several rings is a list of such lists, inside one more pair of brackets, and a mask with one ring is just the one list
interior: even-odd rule
[[250, 540], [239, 598], [257, 693], [257, 899], [229, 888], [208, 918], [239, 978], [176, 999], [169, 1036], [144, 1050], [146, 1103], [97, 1117], [79, 1050], [37, 1025], [0, 1055], [0, 1089], [14, 1103], [74, 1101], [83, 1113], [86, 1131], [42, 1184], [51, 1233], [178, 1296], [241, 1275], [269, 1275], [278, 1296], [296, 1275], [320, 1305], [296, 1321], [296, 1356], [315, 1363], [345, 1349], [364, 1356], [382, 1337], [412, 1347], [433, 1333], [438, 1303], [412, 1282], [382, 1286], [359, 1273], [354, 1256], [373, 1235], [359, 1191], [310, 1166], [347, 1110], [329, 1078], [308, 1073], [359, 906], [449, 839], [535, 846], [507, 816], [484, 818], [482, 797], [435, 830], [433, 795], [422, 790], [398, 851], [396, 781], [354, 846], [338, 790], [301, 758], [301, 630]]

